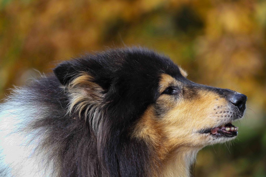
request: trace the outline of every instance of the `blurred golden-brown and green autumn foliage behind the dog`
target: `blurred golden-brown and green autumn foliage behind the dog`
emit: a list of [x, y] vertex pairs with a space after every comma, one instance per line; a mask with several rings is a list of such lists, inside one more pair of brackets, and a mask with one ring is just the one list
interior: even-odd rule
[[266, 1], [0, 0], [0, 98], [61, 60], [132, 45], [248, 96], [238, 138], [200, 151], [195, 177], [266, 176]]

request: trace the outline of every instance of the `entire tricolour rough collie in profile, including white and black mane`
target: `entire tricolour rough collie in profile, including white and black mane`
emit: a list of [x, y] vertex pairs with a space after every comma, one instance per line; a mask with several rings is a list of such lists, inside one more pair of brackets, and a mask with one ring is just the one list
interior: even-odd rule
[[60, 63], [0, 107], [1, 176], [190, 176], [197, 152], [232, 140], [247, 97], [196, 84], [142, 48]]

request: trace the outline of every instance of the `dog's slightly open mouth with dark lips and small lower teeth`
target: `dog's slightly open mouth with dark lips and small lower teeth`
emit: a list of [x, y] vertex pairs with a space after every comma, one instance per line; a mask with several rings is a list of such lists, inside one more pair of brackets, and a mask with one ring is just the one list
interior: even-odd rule
[[206, 129], [201, 131], [201, 133], [210, 133], [213, 136], [217, 137], [235, 137], [237, 135], [238, 127], [235, 127], [231, 123], [222, 125], [221, 127]]

